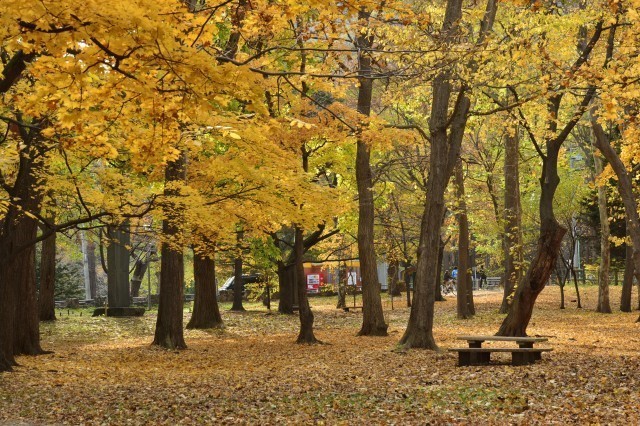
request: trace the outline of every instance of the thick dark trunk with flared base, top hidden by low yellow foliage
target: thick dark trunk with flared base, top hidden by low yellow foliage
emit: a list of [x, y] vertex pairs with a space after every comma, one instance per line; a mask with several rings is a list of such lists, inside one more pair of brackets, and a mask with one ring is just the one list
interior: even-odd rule
[[189, 329], [222, 327], [222, 316], [216, 296], [216, 266], [210, 254], [193, 253], [193, 278], [195, 280], [195, 299], [193, 314], [187, 324]]

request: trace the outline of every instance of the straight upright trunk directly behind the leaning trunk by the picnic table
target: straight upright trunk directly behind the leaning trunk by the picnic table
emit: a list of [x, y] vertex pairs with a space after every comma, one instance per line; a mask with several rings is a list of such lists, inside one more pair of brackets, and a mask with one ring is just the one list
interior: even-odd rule
[[504, 154], [504, 295], [500, 313], [506, 314], [516, 283], [522, 279], [522, 208], [520, 204], [520, 138], [518, 129], [505, 136]]

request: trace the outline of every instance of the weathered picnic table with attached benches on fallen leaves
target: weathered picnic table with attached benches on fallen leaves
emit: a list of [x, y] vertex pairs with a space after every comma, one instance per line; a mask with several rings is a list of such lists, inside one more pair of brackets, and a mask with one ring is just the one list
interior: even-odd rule
[[[504, 336], [458, 336], [458, 340], [466, 340], [468, 348], [451, 348], [449, 351], [458, 352], [458, 366], [488, 365], [491, 352], [511, 352], [512, 365], [533, 364], [542, 358], [542, 352], [549, 352], [551, 348], [534, 348], [535, 343], [546, 342], [545, 337], [504, 337]], [[483, 348], [485, 341], [515, 342], [517, 348]]]

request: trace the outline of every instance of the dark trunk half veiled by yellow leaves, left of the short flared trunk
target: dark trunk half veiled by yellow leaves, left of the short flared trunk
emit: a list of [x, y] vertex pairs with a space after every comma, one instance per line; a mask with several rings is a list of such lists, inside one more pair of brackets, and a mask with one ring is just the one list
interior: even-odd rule
[[185, 349], [182, 330], [184, 304], [184, 257], [182, 253], [182, 217], [184, 206], [177, 197], [179, 189], [173, 185], [186, 178], [186, 154], [167, 163], [165, 169], [164, 204], [166, 218], [162, 233], [166, 238], [160, 249], [160, 304], [153, 344], [167, 349]]

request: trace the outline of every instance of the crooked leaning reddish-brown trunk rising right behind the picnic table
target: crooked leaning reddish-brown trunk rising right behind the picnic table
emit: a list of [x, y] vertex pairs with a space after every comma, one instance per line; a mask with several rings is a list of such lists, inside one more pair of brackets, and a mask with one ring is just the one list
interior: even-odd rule
[[556, 221], [553, 213], [553, 197], [560, 178], [558, 177], [558, 153], [560, 143], [547, 142], [547, 156], [542, 162], [540, 178], [540, 236], [536, 253], [524, 278], [516, 288], [507, 317], [498, 330], [498, 336], [526, 336], [527, 326], [533, 313], [533, 305], [544, 289], [553, 271], [560, 252], [562, 238], [567, 232]]

